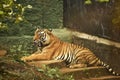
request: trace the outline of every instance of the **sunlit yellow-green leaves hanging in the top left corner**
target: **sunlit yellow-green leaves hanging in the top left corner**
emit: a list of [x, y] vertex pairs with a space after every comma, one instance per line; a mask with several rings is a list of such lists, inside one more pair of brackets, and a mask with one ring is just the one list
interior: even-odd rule
[[16, 0], [0, 0], [0, 33], [8, 32], [9, 23], [19, 23], [24, 20], [24, 12], [31, 5], [22, 5]]

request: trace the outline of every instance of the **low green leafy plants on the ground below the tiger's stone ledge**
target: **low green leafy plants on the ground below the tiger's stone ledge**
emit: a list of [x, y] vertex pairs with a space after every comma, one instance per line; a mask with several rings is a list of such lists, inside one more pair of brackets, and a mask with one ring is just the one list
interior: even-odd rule
[[58, 68], [43, 65], [43, 69], [37, 68], [37, 70], [45, 75], [42, 80], [74, 80], [72, 75], [63, 75]]

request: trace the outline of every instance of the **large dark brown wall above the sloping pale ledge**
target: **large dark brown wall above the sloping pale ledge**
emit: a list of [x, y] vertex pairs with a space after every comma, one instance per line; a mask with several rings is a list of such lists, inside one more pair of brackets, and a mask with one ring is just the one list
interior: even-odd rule
[[[118, 0], [99, 3], [91, 0], [64, 0], [64, 26], [75, 31], [85, 32], [106, 39], [120, 42]], [[116, 16], [116, 17], [115, 17]]]

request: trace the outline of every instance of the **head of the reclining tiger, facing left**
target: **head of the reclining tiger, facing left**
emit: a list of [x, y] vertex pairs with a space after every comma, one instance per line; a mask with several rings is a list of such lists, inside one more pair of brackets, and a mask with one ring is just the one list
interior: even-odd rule
[[50, 44], [52, 35], [51, 31], [52, 30], [37, 28], [33, 37], [34, 44], [38, 47]]

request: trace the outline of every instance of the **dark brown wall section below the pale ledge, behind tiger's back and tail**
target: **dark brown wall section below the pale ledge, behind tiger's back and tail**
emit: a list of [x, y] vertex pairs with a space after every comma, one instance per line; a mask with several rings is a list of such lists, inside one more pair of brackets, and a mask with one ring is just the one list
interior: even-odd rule
[[93, 40], [87, 40], [73, 36], [73, 43], [89, 48], [94, 54], [106, 64], [109, 64], [113, 70], [120, 73], [120, 48], [96, 43]]

